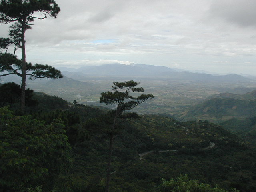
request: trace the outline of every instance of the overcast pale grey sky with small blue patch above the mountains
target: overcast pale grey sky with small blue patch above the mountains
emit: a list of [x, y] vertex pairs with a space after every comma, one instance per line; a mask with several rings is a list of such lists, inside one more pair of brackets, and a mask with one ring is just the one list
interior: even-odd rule
[[[56, 0], [26, 31], [26, 60], [113, 62], [256, 75], [255, 0]], [[0, 36], [8, 24], [0, 25]], [[20, 57], [20, 52], [17, 52]]]

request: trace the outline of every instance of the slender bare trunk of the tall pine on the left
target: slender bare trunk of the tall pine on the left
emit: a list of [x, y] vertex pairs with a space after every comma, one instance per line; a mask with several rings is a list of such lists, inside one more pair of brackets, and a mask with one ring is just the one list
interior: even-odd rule
[[21, 77], [21, 98], [20, 111], [25, 113], [25, 90], [26, 90], [26, 50], [25, 50], [25, 30], [26, 20], [22, 22], [21, 50], [22, 50], [22, 77]]

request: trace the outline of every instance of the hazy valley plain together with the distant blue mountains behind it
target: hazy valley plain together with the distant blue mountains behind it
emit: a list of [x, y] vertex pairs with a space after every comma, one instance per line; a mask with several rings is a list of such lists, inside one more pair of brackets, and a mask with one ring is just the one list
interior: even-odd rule
[[[38, 92], [59, 96], [86, 105], [100, 105], [100, 93], [107, 91], [113, 81], [134, 80], [141, 82], [146, 93], [155, 95], [154, 100], [138, 106], [139, 114], [166, 114], [186, 120], [188, 108], [203, 103], [216, 94], [246, 94], [256, 90], [256, 76], [238, 74], [206, 74], [145, 64], [104, 64], [81, 68], [58, 68], [64, 78], [28, 81], [28, 87]], [[19, 83], [16, 76], [6, 76], [2, 82]], [[217, 97], [217, 96], [216, 96]], [[232, 96], [230, 96], [232, 98]], [[239, 98], [239, 96], [237, 96]], [[250, 98], [253, 99], [253, 98]], [[114, 106], [110, 106], [112, 108]], [[253, 114], [252, 114], [253, 115]], [[213, 117], [187, 118], [189, 120], [213, 120]], [[229, 118], [234, 116], [230, 115]], [[228, 117], [226, 117], [228, 118]], [[216, 120], [216, 119], [215, 119]]]

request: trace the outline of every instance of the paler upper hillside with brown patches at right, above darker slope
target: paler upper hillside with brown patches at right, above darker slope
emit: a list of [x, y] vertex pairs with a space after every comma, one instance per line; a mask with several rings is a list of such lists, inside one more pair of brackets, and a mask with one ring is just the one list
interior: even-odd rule
[[256, 90], [246, 94], [222, 93], [190, 107], [180, 116], [183, 120], [210, 120], [223, 122], [256, 116]]

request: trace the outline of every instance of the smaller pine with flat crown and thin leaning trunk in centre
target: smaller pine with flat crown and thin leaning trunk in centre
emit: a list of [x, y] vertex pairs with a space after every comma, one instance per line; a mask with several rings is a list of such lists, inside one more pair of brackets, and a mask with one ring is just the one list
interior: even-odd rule
[[116, 104], [115, 110], [110, 110], [108, 113], [108, 121], [110, 121], [110, 128], [108, 133], [110, 135], [109, 150], [108, 150], [108, 165], [107, 165], [107, 176], [106, 176], [106, 188], [105, 192], [109, 191], [110, 182], [110, 168], [113, 151], [114, 135], [118, 134], [121, 119], [138, 118], [136, 113], [123, 113], [127, 110], [135, 108], [137, 105], [143, 103], [148, 99], [154, 98], [152, 94], [141, 94], [140, 96], [131, 96], [131, 92], [144, 92], [142, 87], [136, 87], [140, 82], [134, 82], [133, 80], [127, 82], [113, 82], [112, 92], [101, 93], [100, 102], [109, 104]]

